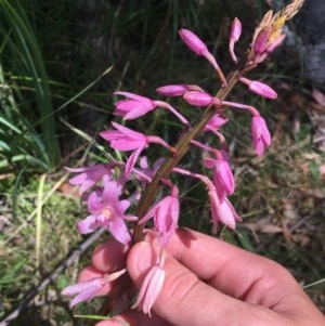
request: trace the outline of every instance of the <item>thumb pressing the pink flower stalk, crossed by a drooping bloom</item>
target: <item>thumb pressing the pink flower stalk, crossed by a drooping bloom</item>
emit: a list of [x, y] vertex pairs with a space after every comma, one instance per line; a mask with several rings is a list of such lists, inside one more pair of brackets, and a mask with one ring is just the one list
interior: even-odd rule
[[[151, 268], [157, 262], [159, 248], [150, 243], [132, 247], [127, 268], [138, 288]], [[238, 325], [238, 321], [250, 323], [250, 305], [229, 297], [198, 279], [184, 265], [166, 252], [166, 278], [162, 289], [153, 305], [154, 311], [172, 325]], [[235, 313], [235, 312], [238, 313]], [[240, 315], [237, 315], [239, 314]], [[252, 313], [255, 315], [255, 313]], [[255, 315], [257, 317], [257, 315]], [[261, 316], [260, 316], [261, 317]], [[264, 316], [265, 317], [265, 316]], [[249, 324], [242, 325], [249, 325]]]

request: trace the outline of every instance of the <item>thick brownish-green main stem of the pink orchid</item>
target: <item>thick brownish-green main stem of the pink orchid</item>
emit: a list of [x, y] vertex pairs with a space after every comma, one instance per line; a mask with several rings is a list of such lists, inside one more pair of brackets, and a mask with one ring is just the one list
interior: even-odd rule
[[[221, 88], [216, 95], [216, 97], [220, 100], [220, 103], [222, 103], [222, 101], [226, 97], [226, 95], [236, 84], [242, 75], [243, 74], [240, 68], [237, 68], [229, 74], [226, 78], [226, 86]], [[165, 160], [165, 162], [154, 175], [152, 182], [143, 191], [138, 205], [138, 209], [135, 211], [135, 216], [139, 218], [139, 220], [141, 220], [151, 208], [155, 196], [158, 193], [160, 180], [168, 178], [168, 175], [172, 172], [172, 169], [180, 162], [180, 160], [190, 149], [191, 141], [196, 139], [200, 134], [208, 121], [218, 113], [221, 105], [212, 104], [208, 106], [193, 125], [193, 127], [187, 129], [185, 133], [180, 138], [178, 143], [174, 145], [176, 154], [170, 154], [170, 156]], [[133, 243], [143, 240], [143, 229], [144, 224], [134, 225]]]

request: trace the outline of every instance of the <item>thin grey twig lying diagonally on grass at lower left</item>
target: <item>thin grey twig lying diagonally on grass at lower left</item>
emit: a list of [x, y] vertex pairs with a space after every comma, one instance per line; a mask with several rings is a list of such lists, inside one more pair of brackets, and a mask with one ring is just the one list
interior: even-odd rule
[[72, 265], [76, 259], [82, 255], [103, 233], [105, 232], [105, 229], [100, 229], [98, 232], [95, 232], [91, 237], [89, 237], [87, 240], [81, 243], [81, 245], [75, 249], [68, 258], [66, 258], [64, 261], [62, 261], [58, 266], [54, 270], [54, 272], [44, 278], [37, 287], [32, 288], [25, 298], [21, 301], [21, 303], [17, 305], [17, 308], [8, 315], [2, 322], [0, 322], [0, 326], [6, 326], [12, 321], [17, 318], [20, 314], [28, 307], [29, 302], [40, 292], [42, 291], [51, 282], [55, 281], [62, 272]]

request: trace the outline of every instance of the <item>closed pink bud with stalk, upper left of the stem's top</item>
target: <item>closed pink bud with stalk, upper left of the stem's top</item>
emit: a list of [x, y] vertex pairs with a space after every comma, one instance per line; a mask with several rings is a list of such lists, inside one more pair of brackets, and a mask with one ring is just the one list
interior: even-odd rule
[[190, 50], [192, 50], [197, 55], [204, 56], [213, 66], [214, 70], [217, 71], [222, 82], [222, 86], [225, 87], [226, 80], [214, 56], [209, 52], [207, 45], [193, 31], [188, 29], [182, 28], [180, 29], [179, 34], [182, 40], [184, 41], [184, 43], [190, 48]]

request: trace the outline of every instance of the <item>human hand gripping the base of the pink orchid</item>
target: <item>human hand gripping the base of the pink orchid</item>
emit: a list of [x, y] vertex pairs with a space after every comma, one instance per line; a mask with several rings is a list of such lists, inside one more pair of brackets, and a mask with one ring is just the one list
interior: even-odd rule
[[[139, 243], [126, 253], [108, 240], [93, 253], [93, 266], [82, 271], [81, 281], [127, 269], [140, 288], [155, 263], [159, 248]], [[123, 255], [121, 255], [125, 252]], [[96, 326], [323, 326], [325, 317], [294, 277], [280, 264], [217, 238], [178, 230], [167, 247], [166, 278], [153, 305], [152, 317], [129, 310]], [[102, 295], [110, 290], [109, 285]]]

